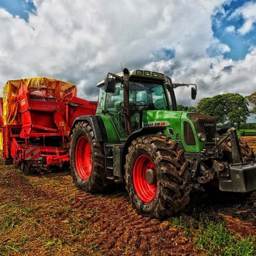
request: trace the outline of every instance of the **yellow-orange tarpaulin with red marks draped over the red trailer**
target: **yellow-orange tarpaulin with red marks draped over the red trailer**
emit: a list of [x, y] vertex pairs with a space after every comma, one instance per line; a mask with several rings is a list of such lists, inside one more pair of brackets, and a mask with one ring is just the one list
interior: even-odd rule
[[26, 85], [30, 92], [41, 88], [52, 88], [52, 93], [57, 99], [63, 98], [67, 93], [74, 92], [76, 96], [76, 85], [51, 78], [25, 78], [20, 80], [9, 80], [3, 88], [3, 116], [4, 125], [20, 125], [19, 113], [19, 89]]

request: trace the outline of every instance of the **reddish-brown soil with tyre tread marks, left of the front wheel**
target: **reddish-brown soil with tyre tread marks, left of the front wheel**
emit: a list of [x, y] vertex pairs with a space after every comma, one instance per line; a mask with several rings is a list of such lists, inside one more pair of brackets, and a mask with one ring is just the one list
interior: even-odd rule
[[78, 211], [98, 209], [98, 213], [86, 216], [88, 224], [98, 236], [88, 236], [86, 243], [100, 246], [102, 254], [125, 255], [129, 248], [134, 255], [197, 255], [195, 246], [178, 228], [168, 221], [148, 219], [137, 215], [127, 195], [100, 197], [80, 192], [71, 203]]

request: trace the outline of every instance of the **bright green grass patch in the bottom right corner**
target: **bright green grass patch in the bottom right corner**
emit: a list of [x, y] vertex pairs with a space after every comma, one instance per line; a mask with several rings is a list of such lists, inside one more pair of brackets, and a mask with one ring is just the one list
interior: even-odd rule
[[197, 247], [207, 251], [207, 255], [253, 256], [256, 253], [254, 236], [232, 236], [222, 221], [200, 223], [194, 241]]

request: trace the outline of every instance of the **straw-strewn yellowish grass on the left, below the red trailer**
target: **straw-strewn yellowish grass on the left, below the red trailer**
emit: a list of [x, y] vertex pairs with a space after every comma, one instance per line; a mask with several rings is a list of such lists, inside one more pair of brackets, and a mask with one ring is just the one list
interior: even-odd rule
[[0, 255], [100, 254], [93, 239], [86, 242], [87, 236], [98, 234], [85, 220], [99, 208], [72, 208], [76, 193], [69, 173], [24, 176], [15, 166], [2, 165]]

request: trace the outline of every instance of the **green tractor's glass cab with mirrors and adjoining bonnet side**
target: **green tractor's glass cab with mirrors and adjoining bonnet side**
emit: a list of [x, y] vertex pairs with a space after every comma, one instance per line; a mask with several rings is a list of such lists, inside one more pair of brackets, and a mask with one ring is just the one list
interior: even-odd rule
[[[113, 141], [126, 141], [132, 132], [148, 126], [170, 126], [167, 119], [180, 118], [181, 112], [176, 111], [174, 88], [187, 84], [173, 84], [171, 78], [159, 72], [132, 70], [128, 74], [125, 96], [123, 79], [123, 72], [108, 73], [107, 78], [97, 84], [100, 93], [96, 113], [109, 119], [109, 124], [113, 125], [113, 129], [110, 129], [113, 131]], [[196, 91], [193, 93], [196, 95]], [[180, 130], [177, 120], [175, 125]]]

